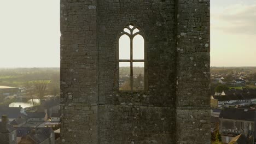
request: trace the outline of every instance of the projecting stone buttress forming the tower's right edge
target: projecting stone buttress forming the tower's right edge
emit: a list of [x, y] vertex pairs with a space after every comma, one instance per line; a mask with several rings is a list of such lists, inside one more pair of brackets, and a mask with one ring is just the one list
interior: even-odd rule
[[210, 0], [177, 1], [177, 143], [210, 143]]

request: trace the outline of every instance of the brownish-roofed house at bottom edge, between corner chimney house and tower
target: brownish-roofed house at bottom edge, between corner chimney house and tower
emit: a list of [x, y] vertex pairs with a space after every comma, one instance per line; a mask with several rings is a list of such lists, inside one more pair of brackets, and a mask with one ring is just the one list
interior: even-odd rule
[[54, 144], [54, 137], [51, 128], [17, 128], [18, 144]]

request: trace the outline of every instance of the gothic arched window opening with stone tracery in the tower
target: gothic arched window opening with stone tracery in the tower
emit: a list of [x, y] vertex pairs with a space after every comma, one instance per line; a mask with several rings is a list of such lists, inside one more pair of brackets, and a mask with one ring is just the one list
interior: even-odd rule
[[119, 90], [143, 91], [144, 34], [135, 25], [127, 25], [119, 38]]

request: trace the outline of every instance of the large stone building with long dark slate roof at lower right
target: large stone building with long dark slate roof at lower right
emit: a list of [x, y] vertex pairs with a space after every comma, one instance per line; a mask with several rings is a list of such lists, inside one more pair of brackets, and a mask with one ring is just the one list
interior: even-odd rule
[[229, 143], [234, 137], [245, 134], [255, 138], [255, 116], [253, 109], [225, 108], [219, 115], [219, 133], [222, 141]]

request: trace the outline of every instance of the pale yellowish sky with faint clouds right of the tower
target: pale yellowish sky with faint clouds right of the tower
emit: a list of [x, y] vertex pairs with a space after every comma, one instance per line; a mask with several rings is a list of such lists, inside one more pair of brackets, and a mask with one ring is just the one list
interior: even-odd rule
[[211, 1], [211, 66], [256, 66], [256, 0]]

